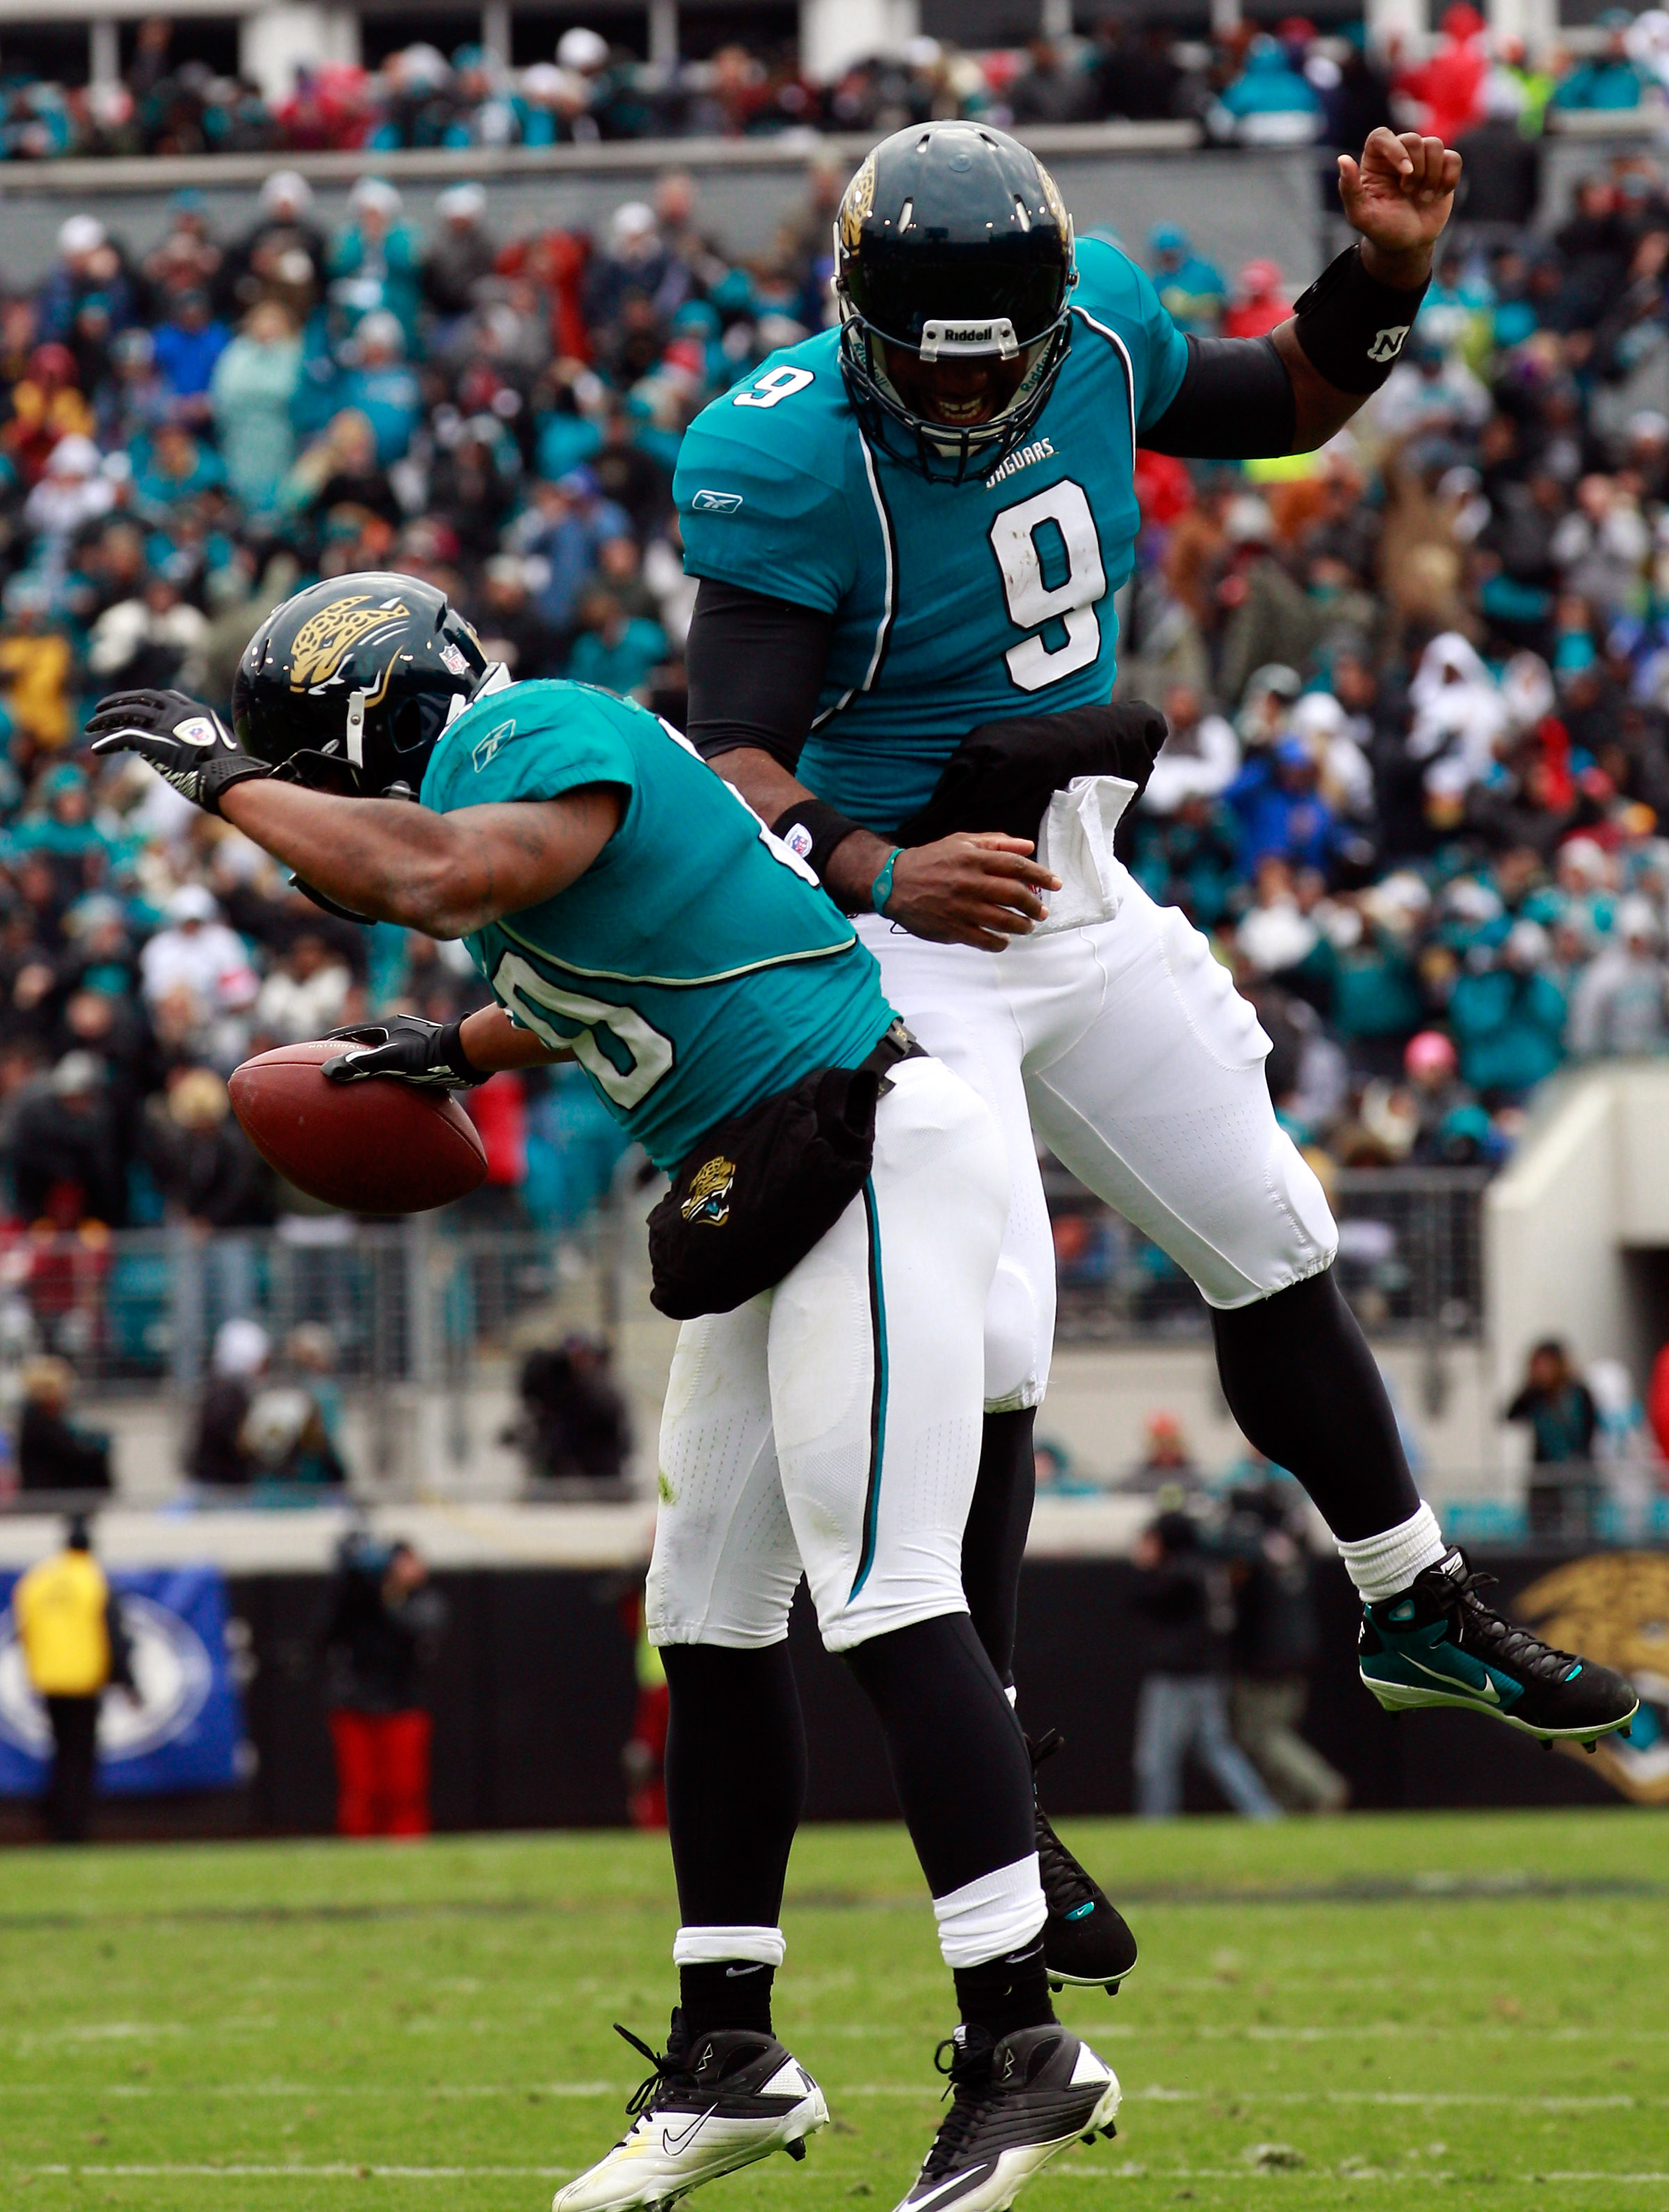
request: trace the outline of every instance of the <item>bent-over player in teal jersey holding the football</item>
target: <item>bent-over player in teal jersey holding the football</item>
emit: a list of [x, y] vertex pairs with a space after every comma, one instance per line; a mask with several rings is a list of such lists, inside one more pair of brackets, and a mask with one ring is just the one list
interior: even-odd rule
[[[862, 1192], [771, 1287], [679, 1336], [648, 1584], [672, 1694], [679, 2008], [663, 2053], [639, 2046], [652, 2073], [628, 2132], [557, 2208], [672, 2203], [771, 2150], [805, 2157], [829, 2119], [771, 2028], [805, 1796], [787, 1659], [805, 1573], [886, 1736], [962, 2013], [928, 2163], [966, 2212], [1001, 2212], [1112, 2132], [1119, 2084], [1054, 2020], [1030, 1761], [962, 1590], [1008, 1206], [990, 1113], [898, 1026], [851, 922], [676, 732], [581, 684], [511, 684], [413, 577], [285, 602], [243, 653], [230, 728], [179, 692], [122, 692], [88, 732], [314, 896], [469, 945], [495, 1002], [338, 1031], [334, 1079], [464, 1088], [573, 1055], [659, 1166], [727, 1170], [696, 1183], [723, 1201], [701, 1208], [712, 1234], [749, 1203], [736, 1161], [758, 1157], [707, 1157], [716, 1128], [818, 1071], [882, 1079]], [[794, 1128], [771, 1124], [767, 1177], [789, 1214], [807, 1188], [780, 1172]]]

